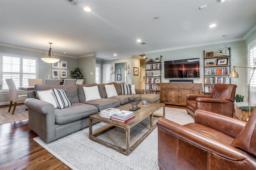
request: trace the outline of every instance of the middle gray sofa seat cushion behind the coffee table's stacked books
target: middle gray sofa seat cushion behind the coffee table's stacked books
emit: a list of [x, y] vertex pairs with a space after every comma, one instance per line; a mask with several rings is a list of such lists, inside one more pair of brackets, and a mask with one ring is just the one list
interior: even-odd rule
[[98, 107], [98, 110], [104, 110], [104, 109], [108, 109], [110, 107], [118, 107], [120, 106], [120, 101], [116, 100], [116, 99], [110, 99], [110, 98], [101, 98], [101, 99], [97, 99], [97, 100], [90, 100], [90, 101], [86, 101], [83, 102], [85, 104], [91, 104], [93, 106]]

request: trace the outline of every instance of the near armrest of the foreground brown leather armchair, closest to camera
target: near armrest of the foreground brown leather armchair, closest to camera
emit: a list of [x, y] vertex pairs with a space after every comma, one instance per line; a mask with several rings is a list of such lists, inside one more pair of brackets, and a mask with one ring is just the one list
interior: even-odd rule
[[[231, 147], [230, 145], [225, 145], [214, 139], [210, 139], [207, 136], [197, 133], [192, 129], [179, 125], [178, 123], [172, 122], [163, 117], [158, 118], [157, 126], [158, 128], [161, 128], [164, 131], [166, 131], [166, 133], [175, 135], [176, 137], [179, 137], [181, 139], [184, 139], [185, 141], [193, 143], [194, 145], [197, 145], [202, 149], [210, 150], [211, 152], [214, 152], [224, 158], [234, 160], [234, 161], [246, 159], [246, 153], [243, 152], [242, 150], [236, 149], [235, 147]], [[158, 140], [164, 140], [164, 139], [158, 138]], [[164, 146], [164, 147], [172, 147], [172, 146]]]

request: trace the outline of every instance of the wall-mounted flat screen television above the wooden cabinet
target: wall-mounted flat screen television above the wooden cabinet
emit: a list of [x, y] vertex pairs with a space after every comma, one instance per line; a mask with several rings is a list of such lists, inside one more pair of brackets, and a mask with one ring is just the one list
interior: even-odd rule
[[164, 78], [199, 78], [199, 58], [164, 61]]

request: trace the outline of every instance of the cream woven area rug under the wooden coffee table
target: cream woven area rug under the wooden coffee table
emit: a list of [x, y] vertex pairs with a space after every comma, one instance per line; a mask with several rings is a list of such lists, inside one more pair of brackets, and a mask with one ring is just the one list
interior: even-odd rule
[[[163, 109], [155, 113], [162, 114]], [[188, 115], [185, 109], [166, 107], [166, 119], [172, 120], [181, 125], [194, 122], [194, 117]], [[154, 123], [156, 119], [154, 119]], [[98, 131], [108, 126], [105, 123], [93, 125], [93, 131]], [[142, 121], [131, 129], [131, 141], [136, 141], [141, 133], [148, 127], [148, 121]], [[113, 149], [91, 141], [88, 137], [89, 128], [82, 129], [66, 137], [44, 143], [40, 137], [34, 138], [39, 145], [48, 150], [61, 162], [73, 170], [158, 170], [157, 163], [157, 128], [128, 156]], [[114, 128], [112, 131], [99, 136], [108, 142], [116, 143], [123, 147], [122, 139], [125, 138], [121, 128]]]

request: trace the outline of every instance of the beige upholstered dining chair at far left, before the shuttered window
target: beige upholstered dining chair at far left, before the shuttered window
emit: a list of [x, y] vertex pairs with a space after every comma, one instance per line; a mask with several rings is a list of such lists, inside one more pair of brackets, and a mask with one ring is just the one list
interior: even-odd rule
[[14, 81], [12, 80], [12, 78], [5, 79], [5, 81], [8, 85], [9, 92], [10, 92], [10, 106], [9, 106], [8, 112], [10, 112], [10, 110], [12, 108], [12, 102], [14, 102], [14, 107], [12, 110], [12, 114], [14, 114], [17, 102], [24, 102], [28, 98], [28, 96], [27, 95], [18, 95], [18, 90], [17, 90], [16, 85], [15, 85]]

